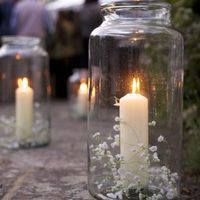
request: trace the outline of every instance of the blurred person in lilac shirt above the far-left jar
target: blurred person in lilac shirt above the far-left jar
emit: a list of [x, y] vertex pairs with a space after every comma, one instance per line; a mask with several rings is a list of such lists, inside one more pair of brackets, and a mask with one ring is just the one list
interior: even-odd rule
[[53, 21], [39, 0], [19, 0], [13, 10], [11, 27], [15, 35], [38, 37], [43, 44], [54, 31]]

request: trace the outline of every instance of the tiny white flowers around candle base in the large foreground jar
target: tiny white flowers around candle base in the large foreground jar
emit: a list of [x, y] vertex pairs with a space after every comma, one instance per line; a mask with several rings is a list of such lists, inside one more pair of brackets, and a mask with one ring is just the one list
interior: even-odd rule
[[[115, 121], [120, 121], [118, 117]], [[119, 125], [114, 125], [113, 130], [119, 132]], [[93, 135], [93, 138], [99, 141], [101, 134], [99, 132]], [[166, 142], [164, 136], [160, 135], [157, 138], [157, 142]], [[139, 200], [171, 200], [177, 197], [177, 182], [178, 174], [172, 173], [166, 166], [158, 166], [161, 163], [158, 153], [158, 147], [156, 145], [146, 149], [143, 144], [132, 146], [131, 152], [134, 155], [139, 155], [144, 159], [144, 163], [151, 162], [152, 166], [141, 163], [139, 170], [149, 179], [148, 188], [145, 189], [142, 186], [141, 176], [129, 172], [122, 168], [121, 164], [124, 163], [122, 155], [116, 153], [119, 150], [120, 136], [119, 134], [113, 134], [113, 136], [107, 137], [106, 141], [97, 145], [90, 145], [89, 149], [92, 152], [92, 164], [90, 171], [96, 174], [99, 170], [105, 172], [105, 176], [102, 175], [102, 180], [96, 182], [99, 191], [107, 190], [107, 184], [112, 183], [112, 186], [108, 189], [106, 196], [111, 199], [122, 199], [122, 194], [129, 195], [129, 191], [134, 191], [138, 195]]]

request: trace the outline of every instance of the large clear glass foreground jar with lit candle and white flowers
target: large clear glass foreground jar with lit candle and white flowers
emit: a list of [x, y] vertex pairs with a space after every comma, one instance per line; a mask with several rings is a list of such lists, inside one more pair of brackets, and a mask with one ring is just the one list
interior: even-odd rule
[[180, 197], [183, 38], [170, 8], [102, 5], [89, 68], [88, 185], [97, 199]]

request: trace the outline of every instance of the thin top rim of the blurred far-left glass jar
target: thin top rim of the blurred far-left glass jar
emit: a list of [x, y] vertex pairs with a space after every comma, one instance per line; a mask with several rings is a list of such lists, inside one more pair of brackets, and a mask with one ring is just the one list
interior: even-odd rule
[[29, 36], [3, 36], [2, 43], [7, 45], [36, 46], [41, 40], [37, 37]]

